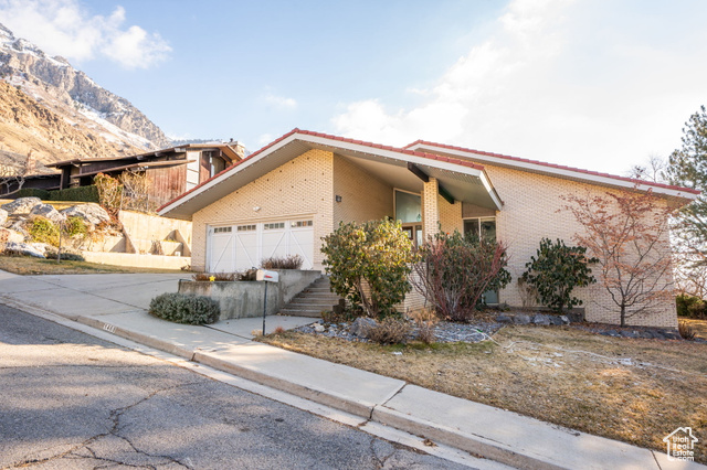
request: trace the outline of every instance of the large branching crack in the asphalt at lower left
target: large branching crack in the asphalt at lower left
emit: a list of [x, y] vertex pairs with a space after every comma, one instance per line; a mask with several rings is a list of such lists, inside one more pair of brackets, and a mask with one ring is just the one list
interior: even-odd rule
[[[169, 387], [163, 387], [163, 388], [159, 388], [156, 389], [151, 393], [149, 393], [147, 396], [138, 399], [137, 402], [135, 402], [131, 405], [127, 405], [127, 406], [122, 406], [119, 408], [114, 408], [110, 410], [110, 415], [108, 416], [108, 419], [110, 419], [113, 421], [113, 426], [110, 427], [110, 429], [106, 432], [101, 432], [97, 434], [95, 436], [92, 436], [85, 440], [83, 440], [82, 442], [80, 442], [76, 446], [73, 446], [71, 449], [65, 450], [63, 452], [60, 452], [57, 455], [51, 456], [51, 457], [46, 457], [43, 459], [23, 459], [19, 462], [12, 463], [10, 466], [7, 467], [2, 467], [2, 469], [0, 470], [6, 470], [6, 469], [12, 469], [12, 468], [27, 468], [27, 467], [31, 467], [31, 466], [35, 466], [38, 463], [46, 463], [50, 461], [54, 461], [54, 460], [59, 460], [59, 459], [63, 459], [63, 458], [71, 458], [72, 460], [76, 460], [76, 459], [95, 459], [95, 460], [102, 460], [105, 461], [107, 463], [113, 463], [113, 464], [122, 464], [122, 466], [126, 466], [126, 467], [133, 467], [133, 468], [147, 468], [147, 469], [155, 469], [157, 470], [157, 467], [155, 464], [149, 464], [149, 463], [145, 463], [145, 464], [134, 464], [134, 463], [128, 463], [128, 462], [124, 462], [120, 460], [114, 460], [114, 459], [109, 459], [107, 457], [99, 457], [98, 455], [96, 455], [96, 452], [89, 447], [92, 444], [97, 442], [99, 439], [104, 438], [104, 437], [108, 437], [108, 436], [114, 436], [118, 439], [124, 440], [128, 446], [130, 446], [130, 448], [134, 450], [135, 453], [139, 455], [139, 456], [145, 456], [151, 459], [163, 459], [167, 462], [171, 462], [171, 463], [176, 463], [180, 467], [183, 467], [186, 469], [192, 469], [191, 466], [188, 466], [186, 463], [182, 463], [181, 461], [179, 461], [178, 459], [171, 457], [171, 456], [161, 456], [161, 455], [156, 455], [156, 453], [149, 453], [145, 450], [140, 450], [138, 449], [135, 444], [133, 444], [133, 441], [126, 437], [126, 436], [122, 436], [119, 434], [119, 426], [120, 426], [120, 417], [128, 410], [130, 410], [131, 408], [147, 402], [148, 399], [155, 397], [157, 394], [160, 394], [162, 392], [167, 392], [167, 391], [171, 391], [171, 389], [176, 389], [176, 388], [181, 388], [181, 387], [186, 387], [186, 386], [190, 386], [190, 385], [199, 385], [200, 382], [188, 382], [184, 384], [178, 384], [178, 385], [171, 385]], [[53, 446], [56, 447], [56, 446]], [[51, 449], [51, 447], [49, 448]], [[40, 450], [40, 452], [49, 450], [49, 449], [42, 449]], [[81, 449], [86, 449], [91, 456], [82, 456], [80, 453], [76, 453], [77, 451], [80, 451]], [[96, 467], [99, 468], [99, 467]]]

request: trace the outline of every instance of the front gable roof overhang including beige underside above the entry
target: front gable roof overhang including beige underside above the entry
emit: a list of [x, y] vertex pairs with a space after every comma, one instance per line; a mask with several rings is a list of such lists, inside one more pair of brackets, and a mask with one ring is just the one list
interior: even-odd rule
[[[503, 206], [484, 168], [477, 163], [295, 129], [165, 204], [159, 214], [191, 220], [199, 210], [313, 149], [346, 158], [393, 188], [421, 192], [422, 173], [435, 178], [442, 195], [453, 201], [494, 210]], [[411, 171], [410, 165], [418, 172]]]

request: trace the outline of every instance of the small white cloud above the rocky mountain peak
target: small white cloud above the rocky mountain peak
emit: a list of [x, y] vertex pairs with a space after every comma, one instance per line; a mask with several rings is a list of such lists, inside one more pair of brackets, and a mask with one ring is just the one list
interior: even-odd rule
[[0, 0], [0, 22], [50, 55], [83, 62], [106, 57], [120, 66], [148, 68], [171, 47], [158, 33], [125, 24], [125, 9], [91, 15], [77, 0]]

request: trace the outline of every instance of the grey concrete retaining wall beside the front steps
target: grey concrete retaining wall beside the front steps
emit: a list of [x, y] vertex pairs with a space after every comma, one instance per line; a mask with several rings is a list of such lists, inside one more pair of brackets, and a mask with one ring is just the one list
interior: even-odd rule
[[[180, 258], [176, 258], [180, 259]], [[275, 314], [297, 293], [321, 276], [318, 270], [279, 269], [279, 282], [267, 286], [267, 314]], [[263, 314], [264, 281], [179, 281], [179, 292], [211, 297], [221, 307], [220, 320]]]

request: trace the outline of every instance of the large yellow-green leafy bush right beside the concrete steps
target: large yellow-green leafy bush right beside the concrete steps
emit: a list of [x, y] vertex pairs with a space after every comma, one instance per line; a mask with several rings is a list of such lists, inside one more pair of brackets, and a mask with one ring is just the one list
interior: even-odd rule
[[389, 218], [344, 224], [324, 237], [321, 253], [331, 289], [369, 317], [394, 314], [411, 287], [415, 259], [400, 223]]

